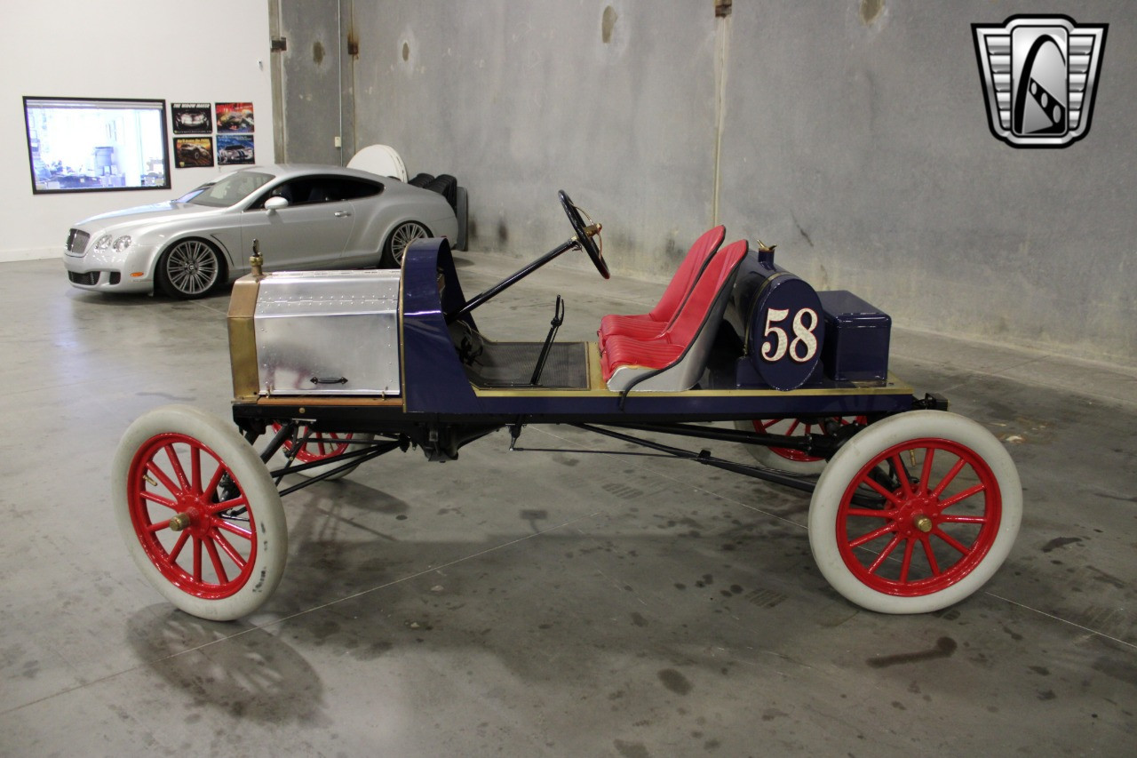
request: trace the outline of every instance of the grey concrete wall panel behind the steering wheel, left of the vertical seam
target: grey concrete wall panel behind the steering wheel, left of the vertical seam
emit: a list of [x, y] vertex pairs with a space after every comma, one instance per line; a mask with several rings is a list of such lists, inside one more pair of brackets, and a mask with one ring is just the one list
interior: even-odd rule
[[[570, 234], [564, 189], [617, 271], [672, 271], [712, 221], [709, 2], [356, 2], [356, 132], [470, 189], [472, 246]], [[582, 269], [590, 264], [578, 256]]]

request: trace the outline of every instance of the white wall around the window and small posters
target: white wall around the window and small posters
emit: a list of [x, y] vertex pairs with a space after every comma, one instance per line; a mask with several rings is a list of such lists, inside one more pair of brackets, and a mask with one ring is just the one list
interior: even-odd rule
[[167, 117], [169, 102], [251, 101], [257, 160], [274, 160], [264, 0], [2, 0], [0, 20], [0, 262], [61, 256], [76, 221], [177, 197], [221, 171], [172, 167], [169, 190], [33, 195], [23, 96], [164, 99]]

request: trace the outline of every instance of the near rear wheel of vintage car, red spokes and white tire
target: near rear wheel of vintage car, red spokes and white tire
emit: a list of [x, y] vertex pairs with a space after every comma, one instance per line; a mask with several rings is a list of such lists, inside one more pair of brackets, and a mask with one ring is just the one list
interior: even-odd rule
[[832, 458], [810, 505], [810, 545], [839, 593], [922, 613], [963, 600], [1003, 563], [1022, 487], [1003, 444], [939, 411], [890, 417]]

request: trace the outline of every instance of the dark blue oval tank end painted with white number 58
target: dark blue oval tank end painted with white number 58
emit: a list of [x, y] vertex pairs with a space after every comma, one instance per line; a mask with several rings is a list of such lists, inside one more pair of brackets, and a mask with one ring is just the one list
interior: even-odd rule
[[752, 313], [746, 347], [758, 376], [774, 389], [797, 389], [821, 359], [825, 323], [818, 294], [780, 271], [763, 282]]

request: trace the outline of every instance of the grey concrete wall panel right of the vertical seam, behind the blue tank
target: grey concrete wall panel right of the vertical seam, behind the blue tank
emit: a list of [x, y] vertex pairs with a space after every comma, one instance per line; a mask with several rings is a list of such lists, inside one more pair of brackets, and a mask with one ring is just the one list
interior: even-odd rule
[[[1137, 364], [1137, 16], [1127, 2], [735, 2], [722, 219], [908, 327]], [[1092, 129], [1013, 149], [970, 24], [1110, 24]]]

